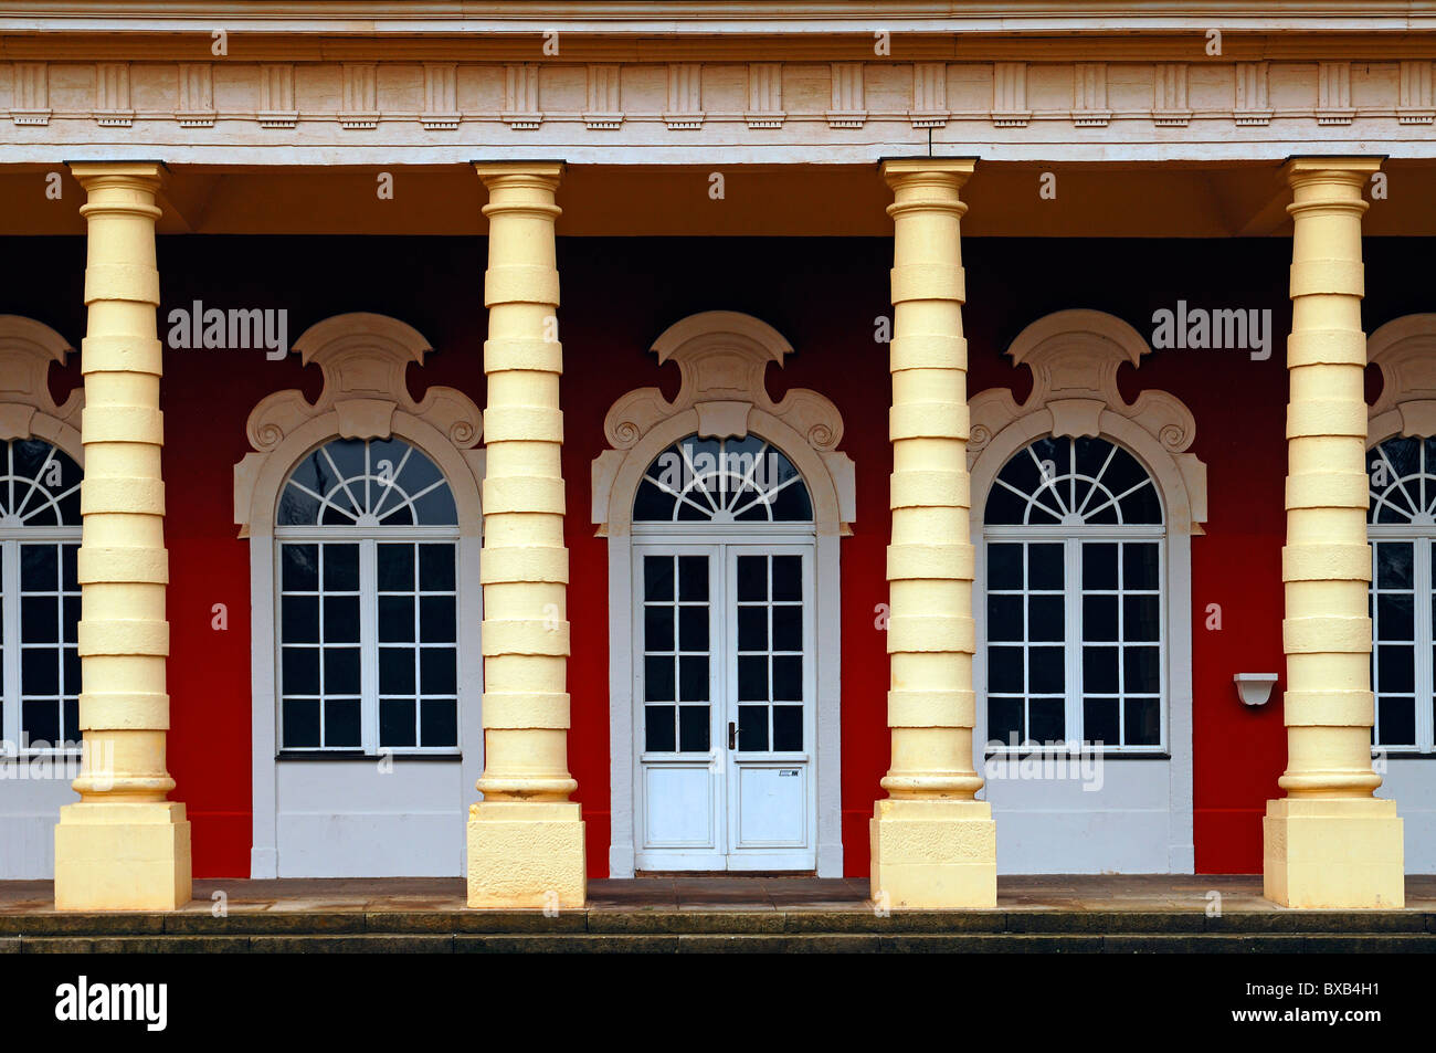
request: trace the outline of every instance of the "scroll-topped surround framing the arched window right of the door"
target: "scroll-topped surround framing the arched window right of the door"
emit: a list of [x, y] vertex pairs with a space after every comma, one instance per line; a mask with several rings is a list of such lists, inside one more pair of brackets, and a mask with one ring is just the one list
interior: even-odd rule
[[[1032, 391], [1018, 404], [1005, 388], [969, 402], [972, 537], [976, 542], [975, 608], [987, 606], [987, 497], [1008, 460], [1043, 437], [1100, 437], [1126, 448], [1152, 476], [1165, 514], [1163, 741], [1170, 757], [1172, 869], [1193, 868], [1192, 835], [1192, 549], [1206, 520], [1206, 465], [1188, 448], [1196, 421], [1175, 395], [1143, 391], [1123, 399], [1117, 371], [1140, 366], [1150, 346], [1122, 319], [1099, 310], [1060, 310], [1032, 322], [1012, 342], [1014, 366], [1032, 372]], [[1061, 532], [1063, 527], [1044, 527]], [[987, 724], [987, 618], [978, 616], [975, 679], [979, 721]], [[1123, 756], [1120, 751], [1110, 753]], [[981, 760], [981, 759], [978, 759]]]

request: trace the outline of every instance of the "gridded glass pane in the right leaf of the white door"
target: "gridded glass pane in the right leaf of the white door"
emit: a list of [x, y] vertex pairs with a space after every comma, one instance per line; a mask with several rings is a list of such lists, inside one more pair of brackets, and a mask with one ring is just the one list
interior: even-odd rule
[[803, 557], [738, 556], [735, 577], [738, 751], [803, 750]]

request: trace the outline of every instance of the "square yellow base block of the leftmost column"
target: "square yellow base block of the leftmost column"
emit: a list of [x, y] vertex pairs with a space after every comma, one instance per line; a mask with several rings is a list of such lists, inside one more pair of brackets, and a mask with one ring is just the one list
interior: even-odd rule
[[184, 804], [82, 803], [60, 809], [55, 909], [177, 911], [191, 898]]

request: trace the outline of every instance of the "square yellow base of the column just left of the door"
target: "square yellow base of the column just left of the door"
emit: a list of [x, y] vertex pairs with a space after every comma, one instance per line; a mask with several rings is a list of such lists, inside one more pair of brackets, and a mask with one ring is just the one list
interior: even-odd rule
[[573, 802], [480, 802], [468, 810], [468, 905], [579, 909], [587, 898]]

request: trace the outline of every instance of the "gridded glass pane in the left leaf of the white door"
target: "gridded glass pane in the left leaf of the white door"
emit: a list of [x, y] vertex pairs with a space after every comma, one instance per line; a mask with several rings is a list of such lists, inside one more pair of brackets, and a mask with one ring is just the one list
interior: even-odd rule
[[643, 748], [708, 753], [712, 723], [708, 557], [645, 556], [642, 618], [643, 700], [668, 702], [643, 707]]

